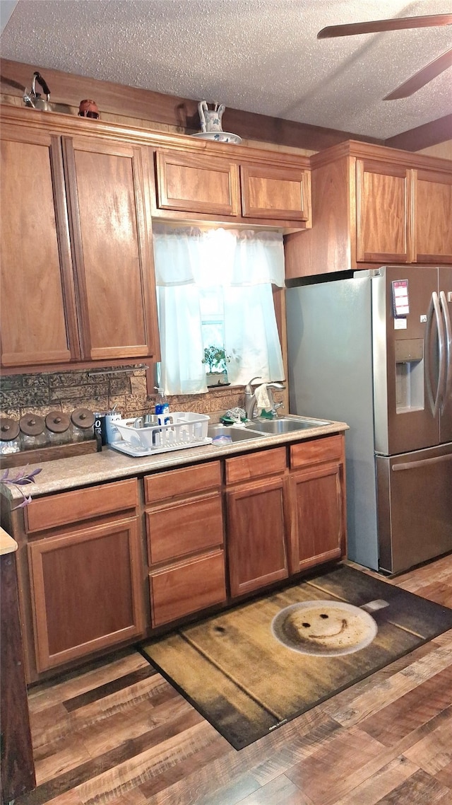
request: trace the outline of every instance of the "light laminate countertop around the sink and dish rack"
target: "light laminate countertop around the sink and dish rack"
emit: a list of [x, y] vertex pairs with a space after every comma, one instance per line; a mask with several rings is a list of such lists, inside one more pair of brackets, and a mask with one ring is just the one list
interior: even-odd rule
[[[107, 446], [102, 452], [88, 453], [83, 456], [45, 461], [42, 464], [29, 464], [27, 469], [42, 467], [42, 471], [35, 477], [35, 483], [24, 486], [24, 491], [31, 497], [61, 492], [65, 489], [75, 489], [104, 481], [113, 481], [125, 477], [151, 473], [156, 470], [171, 469], [185, 464], [194, 464], [199, 461], [216, 460], [227, 456], [238, 455], [251, 450], [277, 447], [281, 444], [310, 440], [318, 436], [327, 436], [348, 430], [343, 422], [329, 422], [307, 430], [292, 431], [291, 433], [257, 436], [256, 439], [233, 442], [221, 447], [212, 444], [201, 447], [185, 448], [171, 452], [158, 453], [154, 456], [135, 458], [126, 456]], [[27, 456], [24, 453], [24, 465]], [[17, 468], [19, 469], [19, 468]], [[2, 492], [11, 500], [22, 500], [18, 489], [14, 486], [3, 485]]]

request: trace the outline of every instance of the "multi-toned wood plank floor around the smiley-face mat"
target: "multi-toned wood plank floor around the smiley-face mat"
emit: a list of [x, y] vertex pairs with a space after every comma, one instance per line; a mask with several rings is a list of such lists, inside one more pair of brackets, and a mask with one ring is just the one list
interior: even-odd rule
[[[392, 584], [452, 607], [452, 555]], [[452, 805], [452, 630], [240, 752], [134, 649], [29, 705], [17, 805]]]

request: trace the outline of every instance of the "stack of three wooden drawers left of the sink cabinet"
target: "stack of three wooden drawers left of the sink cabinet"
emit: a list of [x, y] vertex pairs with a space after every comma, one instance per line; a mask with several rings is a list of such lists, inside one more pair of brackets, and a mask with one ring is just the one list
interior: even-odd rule
[[154, 627], [226, 600], [220, 461], [145, 478]]

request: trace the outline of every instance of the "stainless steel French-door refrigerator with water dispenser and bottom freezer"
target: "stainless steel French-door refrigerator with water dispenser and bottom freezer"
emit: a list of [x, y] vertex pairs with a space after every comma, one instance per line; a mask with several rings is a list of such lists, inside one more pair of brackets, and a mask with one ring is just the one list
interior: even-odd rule
[[452, 267], [288, 284], [290, 411], [350, 426], [348, 558], [396, 573], [452, 551]]

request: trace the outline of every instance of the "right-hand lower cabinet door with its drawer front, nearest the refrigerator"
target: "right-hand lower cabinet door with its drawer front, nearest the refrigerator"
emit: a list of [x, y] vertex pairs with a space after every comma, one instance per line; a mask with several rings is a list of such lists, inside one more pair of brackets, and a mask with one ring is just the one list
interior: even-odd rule
[[290, 572], [346, 553], [343, 436], [290, 448]]

